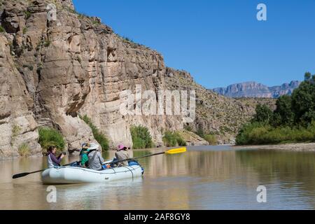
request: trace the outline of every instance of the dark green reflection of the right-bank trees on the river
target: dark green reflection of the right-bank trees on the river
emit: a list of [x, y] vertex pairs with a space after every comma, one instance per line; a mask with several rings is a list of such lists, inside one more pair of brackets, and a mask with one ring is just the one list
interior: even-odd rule
[[[251, 167], [258, 174], [260, 183], [278, 184], [288, 200], [304, 197], [311, 209], [315, 209], [315, 153], [289, 151], [237, 151], [242, 165]], [[294, 196], [293, 196], [294, 194]]]

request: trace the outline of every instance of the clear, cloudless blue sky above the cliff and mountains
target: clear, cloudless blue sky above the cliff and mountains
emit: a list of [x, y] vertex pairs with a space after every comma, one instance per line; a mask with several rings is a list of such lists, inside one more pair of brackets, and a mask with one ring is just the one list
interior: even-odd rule
[[[315, 73], [314, 0], [73, 0], [121, 36], [158, 50], [205, 87], [280, 85]], [[258, 3], [267, 21], [258, 21]]]

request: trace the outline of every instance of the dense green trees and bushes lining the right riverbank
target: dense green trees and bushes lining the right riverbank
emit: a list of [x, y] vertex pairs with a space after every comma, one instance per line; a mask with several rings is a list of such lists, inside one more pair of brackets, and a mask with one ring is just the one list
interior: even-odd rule
[[237, 145], [315, 142], [315, 75], [307, 72], [291, 96], [276, 101], [276, 110], [256, 107], [255, 116], [237, 134]]

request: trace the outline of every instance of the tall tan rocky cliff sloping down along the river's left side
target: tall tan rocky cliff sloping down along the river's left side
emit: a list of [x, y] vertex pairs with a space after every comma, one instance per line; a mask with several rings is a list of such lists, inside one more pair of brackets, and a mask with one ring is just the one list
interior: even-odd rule
[[[69, 150], [95, 141], [80, 119], [85, 115], [106, 134], [112, 148], [120, 143], [132, 146], [132, 125], [148, 127], [155, 143], [162, 145], [163, 132], [183, 130], [183, 119], [121, 113], [120, 94], [137, 94], [137, 85], [153, 93], [196, 88], [197, 118], [190, 124], [194, 130], [224, 136], [225, 127], [232, 125], [232, 138], [251, 118], [255, 104], [246, 106], [205, 90], [189, 73], [167, 68], [159, 52], [73, 9], [71, 0], [1, 1], [5, 31], [0, 33], [0, 157], [18, 155], [22, 142], [32, 154], [40, 153], [41, 126], [62, 132]], [[132, 106], [139, 102], [144, 99], [135, 97]]]

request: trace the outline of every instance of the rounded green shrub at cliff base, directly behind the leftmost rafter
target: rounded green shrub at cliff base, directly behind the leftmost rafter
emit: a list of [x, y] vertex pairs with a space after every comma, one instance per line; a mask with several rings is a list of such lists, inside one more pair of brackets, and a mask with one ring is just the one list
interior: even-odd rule
[[64, 150], [64, 146], [66, 145], [64, 137], [62, 137], [62, 134], [60, 134], [57, 130], [50, 127], [41, 127], [38, 130], [38, 134], [38, 143], [41, 144], [41, 148], [43, 148], [43, 150], [47, 151], [49, 146], [55, 146], [58, 151]]

